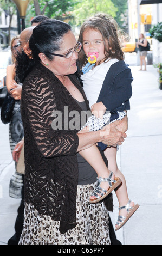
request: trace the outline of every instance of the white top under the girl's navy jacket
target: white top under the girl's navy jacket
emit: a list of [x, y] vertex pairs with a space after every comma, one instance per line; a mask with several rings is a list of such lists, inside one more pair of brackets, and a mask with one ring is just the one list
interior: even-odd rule
[[81, 75], [83, 89], [87, 99], [89, 100], [89, 107], [98, 100], [103, 81], [109, 68], [112, 64], [118, 61], [118, 59], [110, 59], [107, 62], [103, 62], [100, 65], [95, 66], [93, 70], [89, 70], [89, 72]]

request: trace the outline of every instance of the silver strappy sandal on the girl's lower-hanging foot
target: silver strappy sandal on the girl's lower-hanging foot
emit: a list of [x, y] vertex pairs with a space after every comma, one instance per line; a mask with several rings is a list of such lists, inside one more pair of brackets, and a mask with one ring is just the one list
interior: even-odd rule
[[119, 215], [118, 220], [115, 225], [118, 225], [118, 228], [115, 229], [117, 231], [121, 227], [125, 225], [125, 223], [129, 220], [129, 218], [134, 214], [135, 211], [139, 208], [139, 204], [135, 204], [133, 207], [130, 206], [132, 200], [129, 200], [127, 205], [119, 207], [119, 210], [126, 209], [128, 212], [128, 215], [126, 217]]

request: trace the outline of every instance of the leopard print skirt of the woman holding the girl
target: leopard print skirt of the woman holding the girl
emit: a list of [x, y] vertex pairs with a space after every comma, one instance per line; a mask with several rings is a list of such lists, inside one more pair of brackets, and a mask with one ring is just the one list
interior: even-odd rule
[[95, 184], [77, 186], [75, 228], [61, 234], [60, 221], [39, 214], [25, 203], [24, 227], [19, 245], [109, 245], [108, 210], [103, 202], [90, 204]]

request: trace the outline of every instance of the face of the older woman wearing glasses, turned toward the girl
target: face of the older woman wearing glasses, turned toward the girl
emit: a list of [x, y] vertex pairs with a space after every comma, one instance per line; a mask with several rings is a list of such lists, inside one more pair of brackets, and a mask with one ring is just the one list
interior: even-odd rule
[[[60, 50], [55, 51], [56, 54], [67, 54], [69, 51], [73, 51], [77, 41], [72, 31], [69, 31], [63, 36]], [[48, 61], [47, 68], [50, 69], [55, 75], [65, 76], [74, 74], [77, 71], [76, 60], [78, 58], [77, 52], [73, 52], [72, 57], [66, 59], [60, 56], [54, 56], [54, 59]]]

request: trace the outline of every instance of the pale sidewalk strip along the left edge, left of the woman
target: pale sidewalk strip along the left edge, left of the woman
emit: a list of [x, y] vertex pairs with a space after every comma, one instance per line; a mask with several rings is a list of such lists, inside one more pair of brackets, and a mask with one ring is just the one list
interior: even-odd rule
[[21, 199], [9, 197], [9, 182], [15, 163], [9, 146], [9, 125], [0, 121], [0, 130], [0, 245], [5, 245], [15, 234], [14, 225]]

